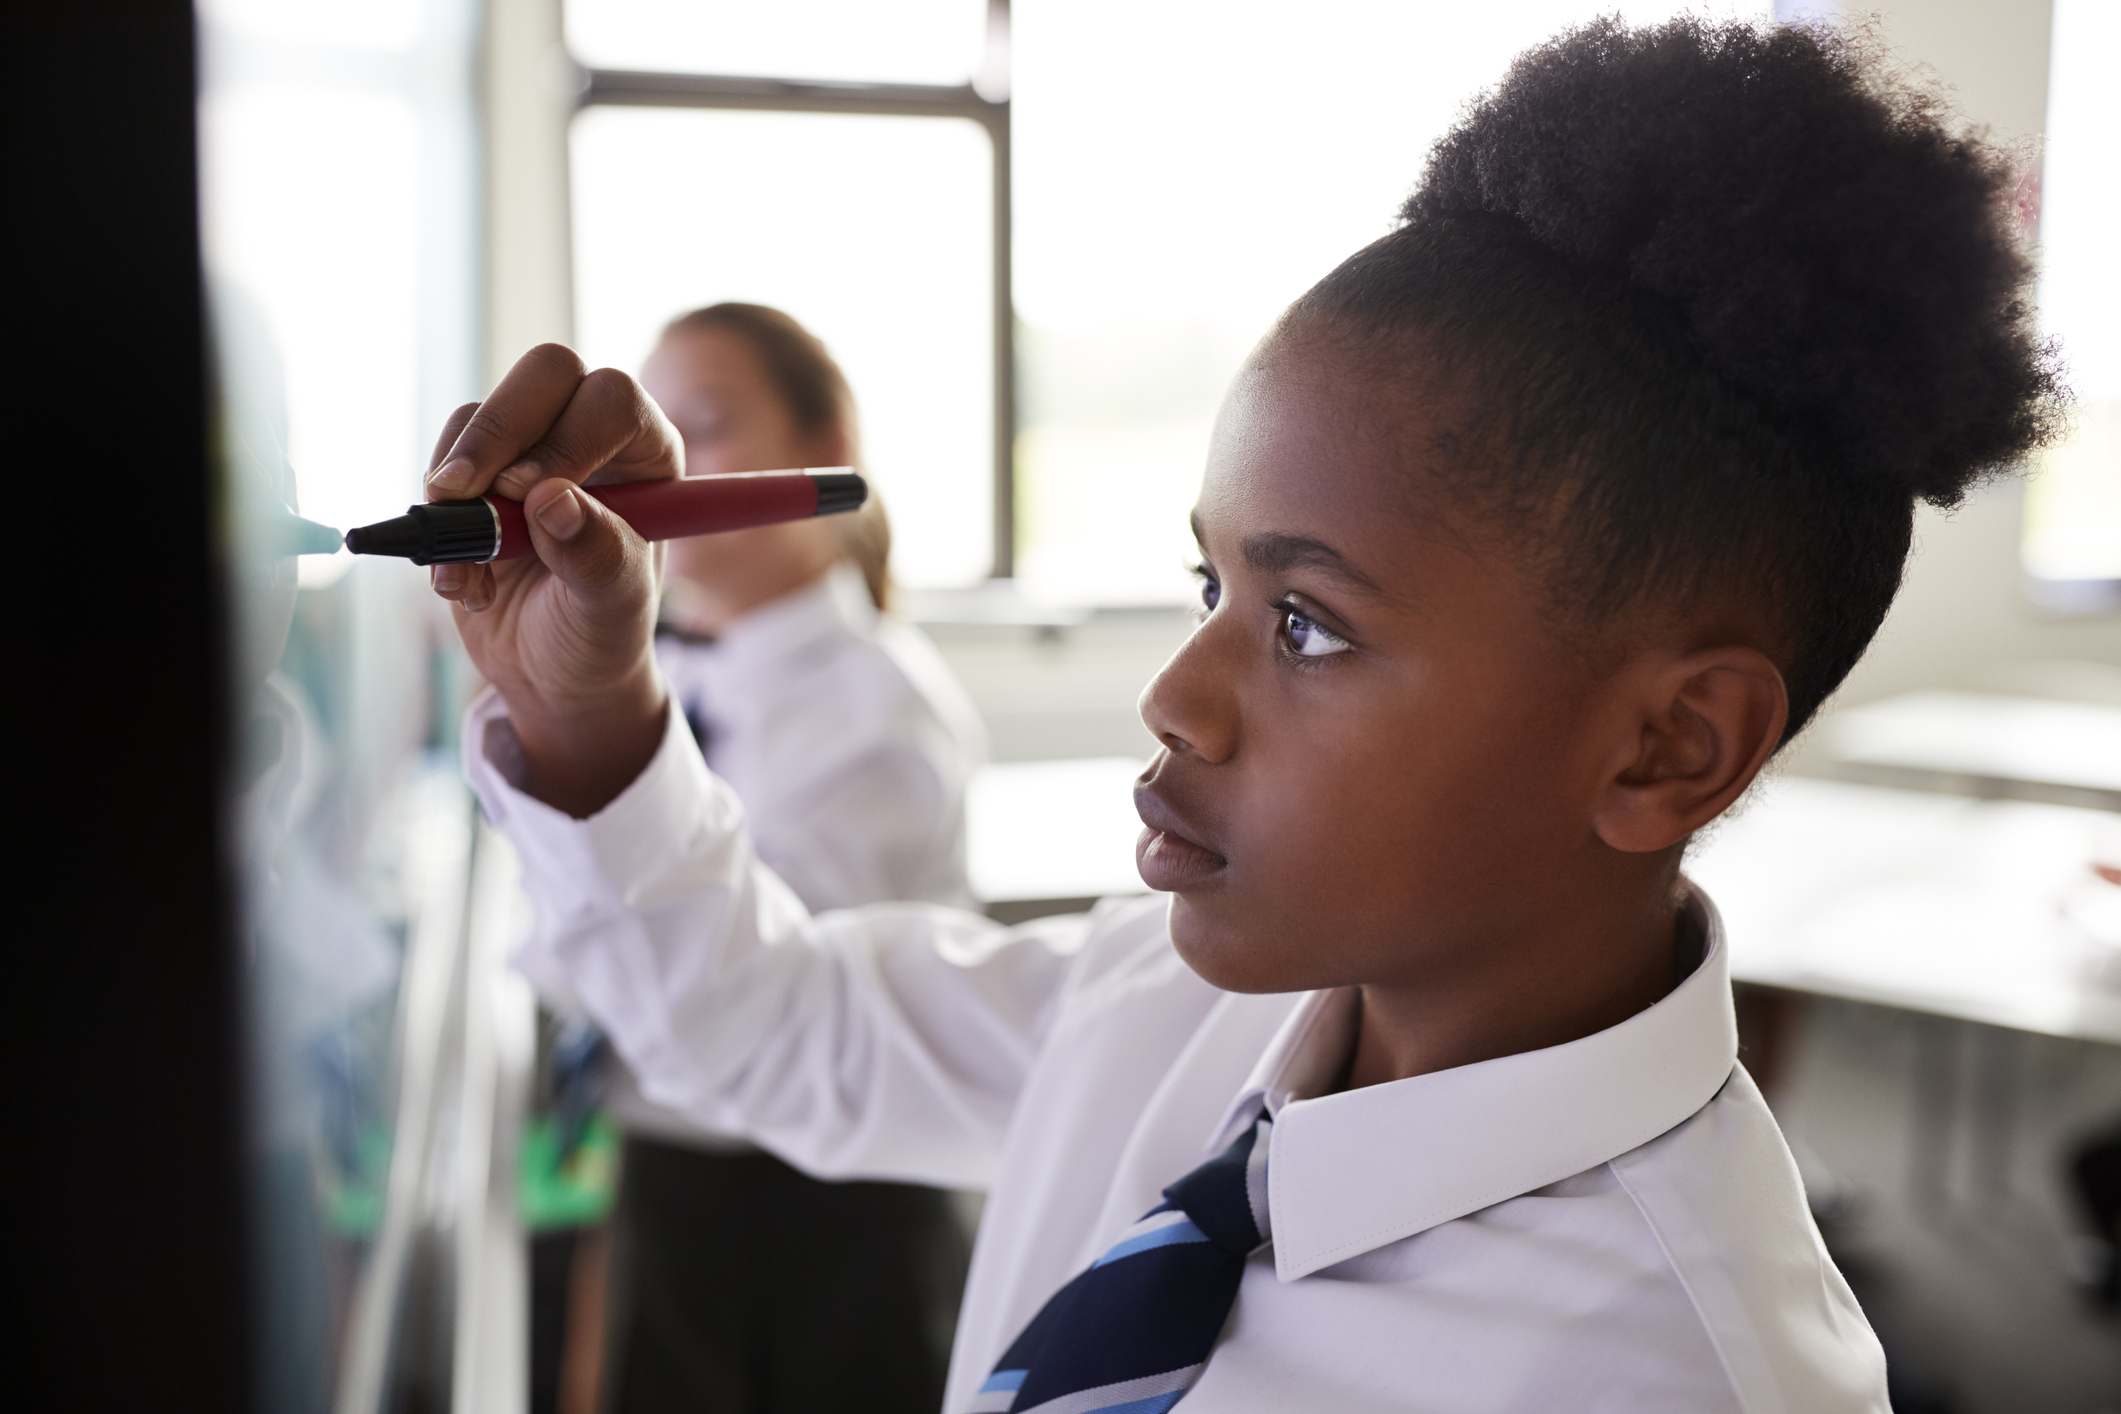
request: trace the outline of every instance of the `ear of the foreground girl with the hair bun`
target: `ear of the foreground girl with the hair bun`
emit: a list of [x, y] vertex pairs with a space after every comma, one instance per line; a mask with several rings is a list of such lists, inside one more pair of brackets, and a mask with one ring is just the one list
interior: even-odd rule
[[1616, 850], [1667, 850], [1767, 765], [1790, 695], [1758, 649], [1705, 649], [1646, 666], [1631, 693], [1633, 740], [1614, 750], [1591, 827]]

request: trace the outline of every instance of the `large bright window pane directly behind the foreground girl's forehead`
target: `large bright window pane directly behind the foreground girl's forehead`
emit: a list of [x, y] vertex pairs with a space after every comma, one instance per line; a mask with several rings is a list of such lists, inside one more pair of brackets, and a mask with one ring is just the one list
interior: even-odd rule
[[[1090, 602], [1190, 594], [1186, 509], [1239, 360], [1283, 305], [1389, 229], [1476, 85], [1614, 8], [1018, 0], [1027, 587]], [[1618, 8], [1642, 21], [1688, 6]]]

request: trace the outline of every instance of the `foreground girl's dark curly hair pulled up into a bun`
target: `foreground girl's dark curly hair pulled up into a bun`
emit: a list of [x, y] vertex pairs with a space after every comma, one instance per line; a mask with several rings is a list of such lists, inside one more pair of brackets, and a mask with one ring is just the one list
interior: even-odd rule
[[2011, 184], [1856, 38], [1601, 19], [1519, 57], [1283, 329], [1453, 394], [1430, 460], [1570, 621], [1763, 606], [1790, 740], [1883, 621], [1915, 498], [2062, 422]]

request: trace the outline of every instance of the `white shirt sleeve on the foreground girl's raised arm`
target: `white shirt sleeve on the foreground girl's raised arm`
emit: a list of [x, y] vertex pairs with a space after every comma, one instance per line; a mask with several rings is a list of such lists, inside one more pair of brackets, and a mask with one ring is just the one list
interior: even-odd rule
[[674, 706], [649, 765], [588, 820], [520, 789], [492, 691], [464, 759], [534, 905], [518, 969], [579, 998], [649, 1100], [819, 1177], [988, 1181], [1086, 918], [808, 914]]

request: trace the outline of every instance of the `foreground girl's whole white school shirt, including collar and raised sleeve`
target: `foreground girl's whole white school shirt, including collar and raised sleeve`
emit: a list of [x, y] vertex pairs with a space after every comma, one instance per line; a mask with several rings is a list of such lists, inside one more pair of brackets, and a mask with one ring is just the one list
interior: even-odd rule
[[1567, 1045], [1321, 1094], [1347, 990], [1194, 975], [1164, 899], [1001, 929], [937, 905], [810, 916], [757, 865], [672, 712], [573, 820], [518, 791], [494, 695], [469, 772], [526, 861], [518, 954], [651, 1096], [825, 1177], [991, 1196], [950, 1359], [1010, 1340], [1264, 1107], [1273, 1244], [1184, 1414], [1886, 1414], [1886, 1363], [1752, 1079], [1722, 924], [1654, 1007]]

